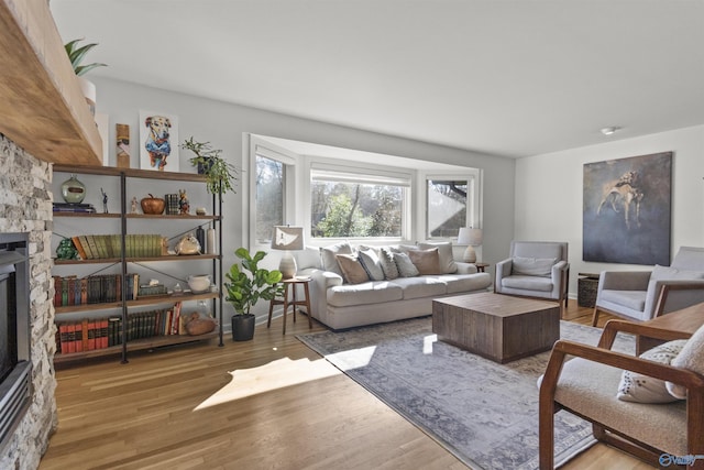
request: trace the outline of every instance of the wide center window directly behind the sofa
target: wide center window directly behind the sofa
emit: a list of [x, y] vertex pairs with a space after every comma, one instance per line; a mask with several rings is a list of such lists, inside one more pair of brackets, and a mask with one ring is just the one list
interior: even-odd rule
[[400, 239], [407, 234], [410, 175], [361, 172], [330, 165], [311, 168], [314, 238]]

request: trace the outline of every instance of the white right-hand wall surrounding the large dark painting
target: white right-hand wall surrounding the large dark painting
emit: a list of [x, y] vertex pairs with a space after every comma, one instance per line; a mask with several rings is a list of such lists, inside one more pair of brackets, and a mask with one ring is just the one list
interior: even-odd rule
[[672, 255], [682, 245], [704, 245], [704, 127], [680, 129], [520, 159], [516, 162], [515, 236], [570, 243], [570, 293], [580, 272], [647, 266], [582, 261], [582, 177], [585, 163], [674, 152], [672, 161]]

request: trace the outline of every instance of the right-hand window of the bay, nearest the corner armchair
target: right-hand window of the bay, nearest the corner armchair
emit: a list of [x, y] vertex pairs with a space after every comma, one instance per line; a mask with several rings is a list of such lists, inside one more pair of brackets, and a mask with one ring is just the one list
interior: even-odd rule
[[457, 238], [476, 218], [475, 176], [426, 177], [426, 238]]

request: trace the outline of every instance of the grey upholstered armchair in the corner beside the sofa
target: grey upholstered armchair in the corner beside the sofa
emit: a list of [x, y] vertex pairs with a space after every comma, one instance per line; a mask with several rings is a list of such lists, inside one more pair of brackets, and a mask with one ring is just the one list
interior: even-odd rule
[[496, 264], [494, 292], [568, 302], [568, 243], [512, 241], [509, 258]]

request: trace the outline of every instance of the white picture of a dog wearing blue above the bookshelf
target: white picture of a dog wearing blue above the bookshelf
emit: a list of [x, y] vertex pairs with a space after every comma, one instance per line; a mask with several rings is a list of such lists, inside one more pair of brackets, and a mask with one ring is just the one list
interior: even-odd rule
[[140, 111], [140, 168], [178, 172], [178, 117]]

